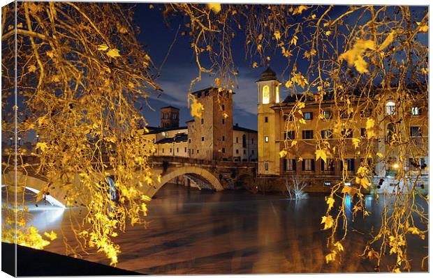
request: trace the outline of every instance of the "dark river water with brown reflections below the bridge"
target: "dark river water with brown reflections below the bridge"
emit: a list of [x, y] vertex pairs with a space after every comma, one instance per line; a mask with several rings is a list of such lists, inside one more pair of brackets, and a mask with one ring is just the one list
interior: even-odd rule
[[[341, 263], [330, 264], [325, 263], [329, 231], [321, 231], [320, 224], [326, 206], [324, 195], [291, 201], [284, 196], [164, 185], [149, 202], [147, 228], [128, 227], [117, 237], [122, 249], [117, 267], [150, 275], [374, 272], [375, 263], [358, 255], [370, 238], [366, 232], [380, 226], [381, 202], [367, 196], [372, 215], [350, 224]], [[350, 206], [346, 203], [347, 210]], [[79, 217], [80, 210], [33, 213], [38, 229], [54, 229], [59, 235], [45, 249], [67, 254], [61, 235], [74, 246], [70, 216]], [[412, 271], [427, 271], [421, 268], [421, 259], [427, 255], [428, 238], [409, 236], [408, 241]], [[101, 254], [82, 255], [109, 263]], [[394, 260], [386, 258], [381, 271]]]

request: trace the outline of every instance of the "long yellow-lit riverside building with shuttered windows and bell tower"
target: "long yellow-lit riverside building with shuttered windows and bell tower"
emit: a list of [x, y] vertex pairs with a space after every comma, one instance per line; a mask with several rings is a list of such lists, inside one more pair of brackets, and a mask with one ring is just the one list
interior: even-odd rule
[[[302, 99], [302, 113], [293, 115], [291, 111], [297, 109], [301, 95], [288, 95], [280, 102], [280, 84], [270, 68], [257, 81], [258, 175], [267, 176], [268, 180], [309, 177], [316, 183], [311, 190], [323, 192], [342, 180], [343, 169], [347, 169], [348, 180], [351, 180], [363, 163], [371, 165], [377, 179], [393, 180], [392, 175], [398, 167], [419, 169], [427, 175], [428, 111], [425, 92], [414, 93], [411, 101], [399, 102], [402, 104], [399, 107], [396, 107], [392, 89], [378, 91], [376, 95], [380, 98], [375, 98], [374, 102], [367, 102], [367, 98], [355, 93], [360, 109], [350, 115], [336, 109], [332, 95], [328, 94], [320, 106], [311, 95], [307, 100]], [[300, 119], [304, 124], [293, 124]], [[377, 125], [373, 144], [368, 144], [374, 148], [370, 152], [374, 154], [372, 157], [365, 157], [368, 119], [374, 119]], [[397, 137], [407, 139], [405, 142], [411, 144], [411, 153], [402, 154], [402, 148], [392, 143]], [[329, 149], [344, 148], [345, 157], [328, 154], [326, 162], [316, 160], [318, 141], [326, 141]], [[342, 141], [344, 146], [341, 146]], [[281, 150], [287, 150], [287, 155], [280, 157]], [[386, 155], [388, 161], [381, 160], [376, 153]], [[399, 160], [406, 163], [400, 166]], [[283, 180], [280, 179], [280, 183]]]

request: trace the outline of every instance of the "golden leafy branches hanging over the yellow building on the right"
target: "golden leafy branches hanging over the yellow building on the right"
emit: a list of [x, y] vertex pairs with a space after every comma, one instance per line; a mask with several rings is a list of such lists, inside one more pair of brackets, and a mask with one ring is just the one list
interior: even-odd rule
[[[409, 159], [415, 161], [428, 151], [425, 137], [411, 137], [413, 122], [408, 116], [412, 107], [427, 107], [428, 46], [427, 36], [423, 35], [428, 32], [427, 8], [414, 11], [409, 6], [228, 4], [219, 6], [217, 13], [212, 6], [201, 4], [169, 3], [165, 8], [165, 15], [180, 14], [189, 20], [182, 33], [191, 38], [198, 65], [198, 77], [191, 86], [203, 72], [216, 75], [215, 85], [219, 88], [237, 86], [231, 47], [233, 39], [243, 32], [246, 58], [252, 68], [266, 65], [271, 56], [287, 63], [281, 80], [297, 101], [285, 115], [290, 119], [286, 121], [286, 132], [294, 130], [299, 134], [300, 125], [307, 124], [302, 118], [306, 102], [318, 105], [322, 118], [321, 105], [325, 100], [332, 102], [333, 116], [326, 120], [332, 124], [332, 133], [342, 136], [322, 138], [320, 130], [316, 130], [316, 160], [326, 162], [332, 158], [343, 165], [341, 182], [325, 199], [328, 210], [322, 224], [331, 231], [327, 263], [335, 261], [343, 250], [348, 221], [346, 198], [350, 196], [353, 202], [353, 216], [362, 212], [367, 217], [364, 194], [376, 194], [374, 176], [388, 176], [388, 165], [394, 161], [391, 183], [396, 187], [384, 193], [381, 228], [367, 242], [363, 255], [376, 260], [379, 268], [381, 258], [389, 252], [396, 255], [390, 270], [410, 270], [406, 235], [427, 232], [427, 225], [421, 229], [413, 220], [420, 217], [421, 222], [427, 222], [427, 212], [420, 206], [428, 204], [420, 190], [425, 169], [407, 166]], [[211, 66], [204, 68], [202, 60]], [[385, 103], [389, 99], [395, 102], [396, 111], [386, 116]], [[367, 111], [367, 120], [360, 120]], [[385, 123], [395, 127], [387, 138], [382, 135]], [[427, 128], [427, 116], [420, 118], [417, 125]], [[365, 135], [349, 136], [349, 129], [360, 126], [365, 128]], [[384, 141], [384, 150], [378, 152], [379, 142]], [[279, 156], [284, 158], [297, 148], [298, 141], [286, 139]], [[353, 174], [346, 161], [350, 153], [372, 163], [365, 160]], [[342, 236], [337, 235], [340, 229], [344, 231]]]

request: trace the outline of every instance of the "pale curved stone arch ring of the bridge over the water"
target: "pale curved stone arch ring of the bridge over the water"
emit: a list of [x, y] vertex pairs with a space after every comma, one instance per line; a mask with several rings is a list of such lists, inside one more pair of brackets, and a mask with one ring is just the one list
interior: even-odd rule
[[175, 169], [169, 169], [167, 173], [161, 173], [161, 183], [156, 182], [155, 186], [152, 187], [152, 190], [150, 190], [150, 192], [147, 192], [147, 194], [150, 197], [154, 196], [154, 194], [161, 187], [163, 187], [163, 185], [168, 183], [170, 180], [173, 180], [174, 178], [183, 175], [194, 176], [195, 178], [203, 180], [209, 185], [211, 185], [212, 188], [216, 191], [221, 191], [224, 189], [223, 185], [221, 185], [221, 182], [218, 180], [218, 178], [214, 176], [210, 171], [207, 171], [206, 169], [200, 167], [186, 166], [186, 167], [176, 167]]

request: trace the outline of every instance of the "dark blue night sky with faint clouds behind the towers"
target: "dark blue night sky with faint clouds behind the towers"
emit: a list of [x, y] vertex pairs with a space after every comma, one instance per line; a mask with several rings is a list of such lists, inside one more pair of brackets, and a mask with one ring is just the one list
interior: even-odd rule
[[[152, 9], [149, 8], [149, 3], [134, 3], [133, 5], [135, 6], [135, 22], [139, 24], [141, 29], [138, 40], [145, 45], [156, 68], [159, 68], [168, 53], [170, 45], [173, 43], [179, 24], [182, 24], [182, 31], [182, 27], [188, 22], [183, 21], [181, 18], [176, 18], [168, 26], [163, 20], [162, 10], [164, 8], [162, 5], [152, 4], [154, 6]], [[346, 6], [335, 6], [329, 15], [337, 17], [346, 9]], [[416, 10], [416, 12], [422, 15], [425, 14], [425, 7], [411, 7], [411, 10]], [[298, 17], [302, 20], [302, 17], [299, 15]], [[188, 90], [191, 80], [198, 76], [198, 67], [195, 62], [193, 49], [191, 49], [189, 37], [180, 36], [181, 31], [179, 31], [175, 45], [161, 69], [161, 77], [156, 80], [164, 92], [161, 95], [159, 92], [149, 95], [149, 104], [154, 110], [149, 107], [143, 109], [147, 122], [152, 126], [159, 125], [159, 108], [167, 105], [179, 107], [180, 125], [184, 125], [185, 121], [191, 119], [189, 109], [187, 108]], [[425, 44], [427, 44], [427, 34], [425, 34], [425, 41]], [[235, 95], [233, 95], [233, 123], [239, 123], [245, 128], [257, 129], [256, 111], [258, 93], [255, 81], [260, 78], [260, 73], [265, 70], [265, 67], [251, 68], [251, 61], [245, 60], [242, 31], [237, 33], [232, 49], [235, 65], [239, 70], [239, 88], [234, 90]], [[277, 77], [281, 81], [284, 80], [281, 77], [281, 72], [283, 72], [287, 65], [286, 59], [284, 59], [280, 52], [275, 55], [270, 54], [270, 56], [272, 58], [270, 62], [272, 69], [277, 72]], [[205, 60], [205, 57], [203, 57], [203, 60]], [[258, 62], [258, 59], [256, 61]], [[304, 62], [307, 63], [306, 60]], [[298, 70], [305, 72], [306, 69], [307, 64], [302, 65], [298, 63]], [[288, 75], [288, 72], [286, 72], [286, 75]], [[287, 79], [287, 76], [285, 79]], [[211, 86], [213, 80], [214, 77], [203, 75], [202, 81], [193, 86], [193, 91]], [[284, 100], [287, 93], [283, 86], [280, 98]]]

